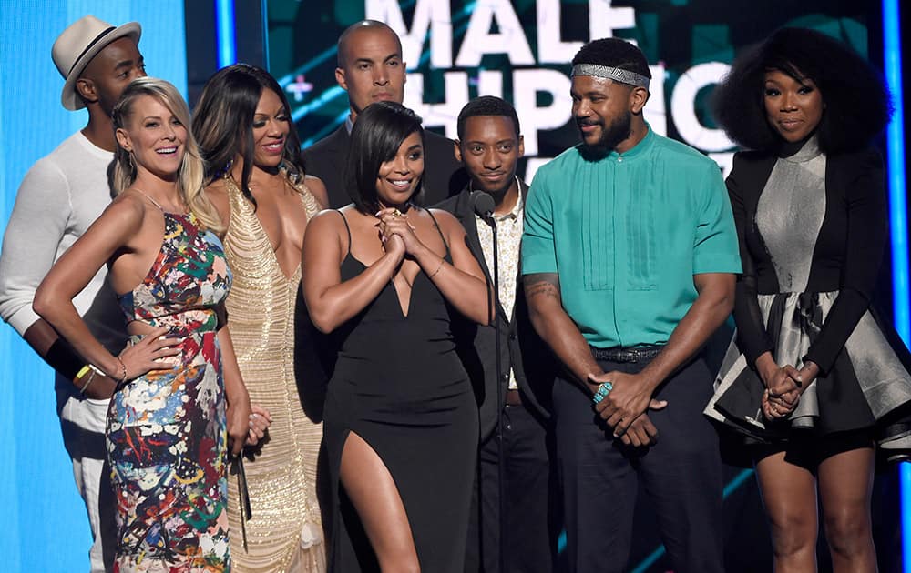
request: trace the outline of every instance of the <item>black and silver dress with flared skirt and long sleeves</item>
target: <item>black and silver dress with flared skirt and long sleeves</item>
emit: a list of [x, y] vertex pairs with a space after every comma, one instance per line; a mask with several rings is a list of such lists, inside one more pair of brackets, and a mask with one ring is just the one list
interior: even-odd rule
[[[790, 156], [737, 154], [727, 180], [741, 244], [737, 333], [705, 414], [752, 439], [871, 430], [889, 458], [911, 454], [911, 355], [870, 308], [885, 252], [882, 160], [826, 156], [815, 137]], [[754, 371], [812, 360], [820, 375], [783, 422], [763, 417]]]

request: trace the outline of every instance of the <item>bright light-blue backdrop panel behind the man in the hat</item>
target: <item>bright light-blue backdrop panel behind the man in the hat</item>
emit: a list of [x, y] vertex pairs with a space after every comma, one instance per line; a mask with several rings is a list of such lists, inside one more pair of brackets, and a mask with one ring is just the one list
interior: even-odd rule
[[[149, 75], [186, 92], [181, 0], [0, 0], [0, 233], [28, 167], [86, 125], [60, 106], [51, 45], [91, 14], [138, 21]], [[12, 327], [0, 325], [0, 556], [4, 571], [87, 571], [91, 534], [60, 437], [54, 377]]]

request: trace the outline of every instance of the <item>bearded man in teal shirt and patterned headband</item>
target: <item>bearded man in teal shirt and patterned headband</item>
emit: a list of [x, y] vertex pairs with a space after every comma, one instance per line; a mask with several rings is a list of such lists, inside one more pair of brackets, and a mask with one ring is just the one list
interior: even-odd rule
[[674, 570], [722, 572], [700, 357], [741, 271], [721, 172], [646, 124], [639, 48], [596, 40], [572, 64], [583, 142], [538, 170], [522, 237], [532, 322], [566, 367], [554, 416], [570, 570], [626, 568], [641, 483]]

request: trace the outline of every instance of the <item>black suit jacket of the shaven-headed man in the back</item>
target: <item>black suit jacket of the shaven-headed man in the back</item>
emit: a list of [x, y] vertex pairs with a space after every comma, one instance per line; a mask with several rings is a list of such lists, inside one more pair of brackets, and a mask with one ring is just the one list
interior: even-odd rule
[[[455, 142], [451, 139], [425, 130], [424, 145], [423, 196], [418, 197], [417, 202], [422, 205], [434, 205], [458, 193], [466, 186], [468, 176], [465, 169], [455, 160]], [[322, 179], [326, 191], [329, 192], [329, 206], [333, 209], [351, 203], [351, 196], [348, 195], [348, 189], [343, 183], [349, 146], [351, 135], [343, 124], [331, 135], [323, 137], [303, 151], [303, 163], [307, 174]]]

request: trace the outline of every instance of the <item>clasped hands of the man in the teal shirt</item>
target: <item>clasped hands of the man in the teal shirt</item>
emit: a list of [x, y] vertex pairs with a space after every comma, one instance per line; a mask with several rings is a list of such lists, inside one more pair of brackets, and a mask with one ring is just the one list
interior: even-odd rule
[[640, 375], [625, 372], [589, 374], [586, 381], [592, 394], [597, 393], [604, 382], [612, 387], [595, 405], [595, 412], [613, 429], [614, 437], [632, 447], [650, 446], [658, 441], [658, 429], [651, 423], [646, 410], [660, 410], [668, 403], [651, 397], [654, 386]]

